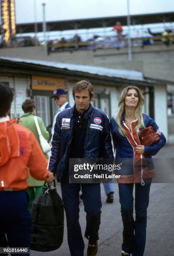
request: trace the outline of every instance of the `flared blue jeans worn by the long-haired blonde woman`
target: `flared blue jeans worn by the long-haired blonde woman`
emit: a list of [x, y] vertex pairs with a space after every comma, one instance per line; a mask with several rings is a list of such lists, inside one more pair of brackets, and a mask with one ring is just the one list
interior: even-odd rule
[[147, 207], [151, 183], [135, 184], [135, 213], [133, 219], [133, 186], [118, 184], [123, 220], [122, 250], [132, 256], [143, 256], [146, 244]]

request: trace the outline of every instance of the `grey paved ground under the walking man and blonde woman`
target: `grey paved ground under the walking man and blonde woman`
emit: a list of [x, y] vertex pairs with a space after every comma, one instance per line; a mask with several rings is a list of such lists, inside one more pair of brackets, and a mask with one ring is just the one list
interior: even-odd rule
[[[174, 158], [174, 145], [165, 146], [158, 153], [159, 158]], [[123, 225], [120, 214], [118, 184], [114, 184], [113, 204], [107, 204], [103, 185], [101, 184], [102, 215], [98, 256], [120, 256]], [[57, 191], [61, 195], [60, 184]], [[86, 220], [83, 203], [80, 203], [80, 224], [84, 235]], [[87, 255], [87, 239], [84, 238]], [[67, 243], [66, 219], [64, 225], [64, 242], [58, 250], [52, 252], [31, 251], [31, 256], [70, 256]], [[174, 255], [174, 184], [151, 184], [148, 206], [147, 237], [144, 256]]]

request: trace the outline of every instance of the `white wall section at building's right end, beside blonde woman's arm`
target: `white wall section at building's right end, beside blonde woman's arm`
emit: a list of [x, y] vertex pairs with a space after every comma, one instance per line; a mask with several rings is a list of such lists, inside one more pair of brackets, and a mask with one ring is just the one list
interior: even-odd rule
[[165, 85], [156, 85], [154, 88], [154, 119], [168, 139], [167, 90]]

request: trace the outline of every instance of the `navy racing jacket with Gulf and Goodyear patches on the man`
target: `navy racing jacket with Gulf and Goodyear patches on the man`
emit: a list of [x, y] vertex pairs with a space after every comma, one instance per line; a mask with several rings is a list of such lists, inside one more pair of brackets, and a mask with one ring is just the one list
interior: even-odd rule
[[[73, 136], [73, 113], [74, 107], [63, 110], [57, 116], [54, 125], [48, 169], [56, 174], [58, 182], [62, 180], [69, 162], [69, 150]], [[90, 104], [84, 118], [88, 120], [84, 158], [113, 158], [110, 121], [107, 115]]]

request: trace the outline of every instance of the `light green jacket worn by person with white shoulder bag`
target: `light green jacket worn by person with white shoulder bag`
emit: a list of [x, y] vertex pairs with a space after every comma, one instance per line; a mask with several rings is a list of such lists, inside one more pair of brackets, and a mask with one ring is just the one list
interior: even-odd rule
[[[44, 125], [43, 120], [40, 117], [38, 117], [38, 116], [37, 116], [37, 119], [38, 119], [38, 125], [39, 125], [39, 127], [41, 129], [42, 135], [44, 136], [44, 138], [46, 140], [48, 140], [49, 139], [49, 132], [46, 131], [46, 127]], [[36, 124], [34, 122], [34, 115], [33, 115], [33, 113], [25, 113], [25, 114], [23, 114], [20, 117], [19, 124], [25, 126], [30, 131], [32, 131], [34, 136], [36, 137], [39, 145], [41, 146], [40, 141], [39, 141], [38, 131], [37, 131], [37, 128], [36, 128]], [[46, 154], [45, 154], [45, 157], [46, 157], [46, 159], [48, 159], [48, 156]], [[29, 187], [40, 187], [40, 186], [44, 185], [43, 181], [39, 181], [39, 180], [33, 179], [33, 177], [31, 177], [30, 174], [28, 176], [27, 182], [29, 184]]]

